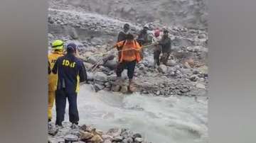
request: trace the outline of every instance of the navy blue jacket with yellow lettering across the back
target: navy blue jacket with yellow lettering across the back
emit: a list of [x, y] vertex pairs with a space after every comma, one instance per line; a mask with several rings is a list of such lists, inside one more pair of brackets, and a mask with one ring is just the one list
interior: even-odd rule
[[78, 92], [79, 83], [87, 81], [85, 66], [80, 59], [72, 54], [58, 57], [53, 67], [53, 74], [58, 74], [57, 90]]

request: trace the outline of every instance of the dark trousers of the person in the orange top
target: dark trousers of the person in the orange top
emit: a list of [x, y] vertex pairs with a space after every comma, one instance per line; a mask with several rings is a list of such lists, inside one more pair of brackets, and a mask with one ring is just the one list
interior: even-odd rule
[[129, 79], [132, 79], [134, 76], [135, 66], [136, 66], [136, 60], [132, 62], [123, 61], [117, 64], [117, 69], [116, 69], [117, 77], [121, 77], [122, 71], [124, 71], [124, 69], [127, 69], [127, 76]]

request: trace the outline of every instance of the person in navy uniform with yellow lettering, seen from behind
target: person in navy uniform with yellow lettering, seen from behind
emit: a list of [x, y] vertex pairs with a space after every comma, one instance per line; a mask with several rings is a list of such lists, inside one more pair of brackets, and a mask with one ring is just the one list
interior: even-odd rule
[[56, 90], [56, 122], [55, 125], [62, 127], [65, 115], [65, 105], [68, 98], [69, 120], [72, 128], [78, 127], [79, 115], [77, 106], [77, 96], [80, 82], [87, 81], [87, 74], [84, 64], [75, 57], [77, 45], [70, 43], [67, 45], [67, 54], [59, 57], [53, 67], [53, 74], [58, 74]]

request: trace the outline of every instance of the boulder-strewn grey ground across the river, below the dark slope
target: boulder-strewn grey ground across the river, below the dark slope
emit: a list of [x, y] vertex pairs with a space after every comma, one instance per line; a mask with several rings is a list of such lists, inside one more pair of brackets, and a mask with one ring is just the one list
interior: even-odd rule
[[[62, 39], [65, 42], [75, 42], [79, 46], [80, 57], [85, 61], [85, 67], [91, 67], [102, 59], [102, 55], [93, 53], [107, 52], [114, 45], [117, 33], [124, 21], [106, 18], [95, 13], [81, 13], [68, 10], [49, 9], [49, 42]], [[57, 22], [53, 22], [57, 21]], [[134, 32], [139, 26], [133, 23]], [[154, 69], [153, 47], [148, 47], [144, 59], [137, 64], [135, 82], [138, 91], [143, 94], [152, 93], [155, 96], [201, 96], [206, 95], [208, 84], [207, 41], [208, 35], [203, 30], [169, 27], [172, 39], [171, 59], [166, 65], [161, 64]], [[127, 87], [116, 88], [114, 66], [116, 55], [111, 61], [100, 64], [93, 72], [88, 71], [90, 83], [95, 90], [122, 91]], [[124, 71], [125, 73], [125, 71]], [[127, 76], [124, 74], [124, 79]], [[123, 88], [123, 89], [122, 89]]]

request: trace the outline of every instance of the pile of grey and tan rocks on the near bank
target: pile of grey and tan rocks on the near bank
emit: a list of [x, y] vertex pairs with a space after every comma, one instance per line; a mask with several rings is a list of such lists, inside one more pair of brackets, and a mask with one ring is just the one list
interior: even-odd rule
[[88, 125], [75, 129], [70, 129], [65, 125], [57, 135], [49, 135], [48, 139], [50, 143], [149, 143], [142, 138], [142, 135], [128, 129], [112, 128], [107, 132], [102, 132]]

